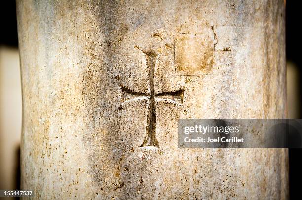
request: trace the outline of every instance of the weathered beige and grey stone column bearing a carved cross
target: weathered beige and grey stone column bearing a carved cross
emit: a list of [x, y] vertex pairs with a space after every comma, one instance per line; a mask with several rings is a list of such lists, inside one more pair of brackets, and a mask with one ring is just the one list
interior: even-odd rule
[[285, 149], [179, 149], [179, 118], [285, 117], [283, 0], [17, 0], [22, 188], [286, 199]]

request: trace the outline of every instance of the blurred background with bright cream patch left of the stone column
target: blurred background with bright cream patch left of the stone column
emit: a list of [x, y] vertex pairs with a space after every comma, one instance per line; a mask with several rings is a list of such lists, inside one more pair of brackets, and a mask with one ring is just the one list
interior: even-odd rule
[[0, 9], [0, 189], [19, 189], [22, 97], [15, 1], [0, 1]]

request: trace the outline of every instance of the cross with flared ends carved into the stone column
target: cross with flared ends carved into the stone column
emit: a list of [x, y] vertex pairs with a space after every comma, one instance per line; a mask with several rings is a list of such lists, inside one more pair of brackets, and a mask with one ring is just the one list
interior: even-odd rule
[[[157, 54], [154, 52], [143, 52], [146, 55], [147, 66], [149, 69], [149, 89], [150, 94], [138, 93], [122, 86], [123, 100], [138, 100], [140, 97], [147, 97], [149, 100], [148, 114], [147, 114], [147, 127], [146, 136], [141, 147], [155, 146], [158, 147], [158, 141], [156, 139], [156, 109], [155, 100], [166, 100], [169, 103], [175, 103], [182, 105], [184, 90], [176, 90], [173, 92], [164, 92], [156, 94], [154, 90], [154, 71]], [[127, 98], [130, 96], [131, 98]]]

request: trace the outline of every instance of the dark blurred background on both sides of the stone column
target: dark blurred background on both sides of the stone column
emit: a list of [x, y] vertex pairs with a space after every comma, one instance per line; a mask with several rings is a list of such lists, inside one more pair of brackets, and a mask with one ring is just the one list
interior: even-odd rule
[[[301, 118], [302, 56], [300, 1], [286, 2], [289, 118]], [[0, 2], [0, 189], [20, 188], [21, 84], [14, 0]], [[301, 197], [302, 149], [289, 149], [290, 197]], [[301, 199], [301, 198], [299, 198]]]

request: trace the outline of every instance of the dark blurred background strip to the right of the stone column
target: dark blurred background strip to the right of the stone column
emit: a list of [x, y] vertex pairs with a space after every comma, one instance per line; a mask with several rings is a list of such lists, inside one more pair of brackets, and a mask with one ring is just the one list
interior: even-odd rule
[[[294, 90], [296, 92], [292, 97], [288, 95], [288, 107], [290, 110], [291, 102], [297, 98], [296, 112], [292, 113], [292, 118], [302, 118], [302, 109], [300, 102], [302, 100], [302, 56], [301, 56], [301, 13], [299, 0], [286, 1], [286, 58], [288, 67], [288, 92]], [[291, 65], [292, 71], [289, 71]], [[292, 76], [290, 76], [292, 75]], [[297, 87], [290, 88], [289, 83], [297, 81]], [[293, 84], [294, 85], [294, 84]], [[291, 85], [290, 85], [291, 86]], [[290, 115], [290, 112], [289, 112]], [[291, 117], [291, 116], [289, 116]], [[289, 149], [289, 180], [290, 180], [290, 197], [291, 199], [301, 199], [301, 181], [302, 181], [302, 149]], [[299, 197], [299, 198], [298, 198]]]

